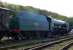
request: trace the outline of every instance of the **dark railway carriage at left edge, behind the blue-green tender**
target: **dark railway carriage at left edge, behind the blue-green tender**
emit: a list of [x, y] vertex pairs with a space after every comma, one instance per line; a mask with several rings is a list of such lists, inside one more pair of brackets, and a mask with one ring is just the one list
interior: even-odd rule
[[0, 7], [0, 39], [9, 36], [9, 22], [13, 17], [13, 11]]

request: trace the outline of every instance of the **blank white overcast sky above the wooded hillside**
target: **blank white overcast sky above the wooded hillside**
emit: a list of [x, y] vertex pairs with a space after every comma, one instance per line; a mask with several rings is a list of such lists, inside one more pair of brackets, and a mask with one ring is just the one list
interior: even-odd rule
[[56, 12], [65, 16], [73, 16], [73, 0], [0, 0], [3, 2], [33, 6]]

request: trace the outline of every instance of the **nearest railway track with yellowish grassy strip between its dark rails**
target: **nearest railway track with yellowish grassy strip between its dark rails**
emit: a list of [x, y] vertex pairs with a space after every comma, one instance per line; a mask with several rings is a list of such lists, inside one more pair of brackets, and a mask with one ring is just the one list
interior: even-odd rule
[[73, 39], [66, 39], [50, 44], [46, 43], [38, 47], [29, 48], [28, 50], [66, 50], [65, 47], [68, 48], [72, 44], [73, 44]]

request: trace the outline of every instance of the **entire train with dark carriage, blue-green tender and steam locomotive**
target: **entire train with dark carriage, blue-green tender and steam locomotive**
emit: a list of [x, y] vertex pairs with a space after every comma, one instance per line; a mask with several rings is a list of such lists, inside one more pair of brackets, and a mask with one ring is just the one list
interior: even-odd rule
[[9, 9], [0, 8], [0, 39], [4, 36], [15, 40], [44, 39], [66, 35], [69, 30], [67, 22], [49, 16], [28, 11], [21, 11], [15, 16], [12, 13]]

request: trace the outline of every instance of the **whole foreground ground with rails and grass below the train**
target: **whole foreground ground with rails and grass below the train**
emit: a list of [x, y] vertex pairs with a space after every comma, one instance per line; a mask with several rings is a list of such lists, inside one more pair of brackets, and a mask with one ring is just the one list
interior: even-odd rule
[[70, 35], [50, 40], [7, 41], [0, 43], [0, 50], [71, 50], [72, 44], [73, 35]]

